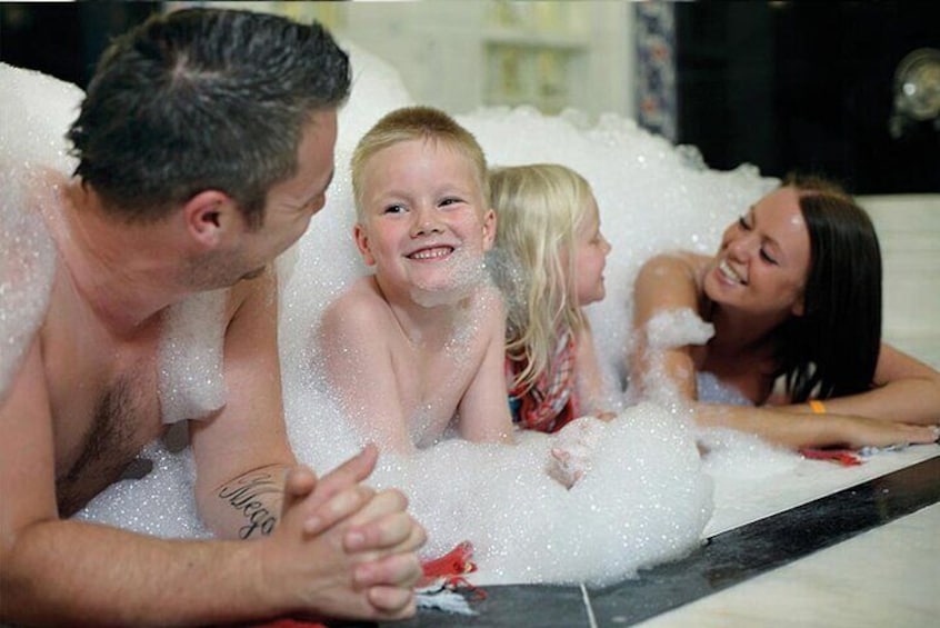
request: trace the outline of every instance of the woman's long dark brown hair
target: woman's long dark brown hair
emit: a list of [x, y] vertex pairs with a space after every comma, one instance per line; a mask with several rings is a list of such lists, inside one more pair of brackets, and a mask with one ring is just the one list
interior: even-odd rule
[[794, 402], [868, 390], [881, 347], [881, 250], [868, 213], [839, 186], [789, 176], [810, 239], [803, 316], [781, 329], [780, 370]]

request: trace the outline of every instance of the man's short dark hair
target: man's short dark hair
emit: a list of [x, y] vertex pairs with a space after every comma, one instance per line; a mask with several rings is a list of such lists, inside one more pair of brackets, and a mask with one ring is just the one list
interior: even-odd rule
[[349, 59], [320, 24], [219, 9], [156, 14], [98, 63], [68, 132], [76, 175], [126, 221], [158, 220], [207, 189], [250, 227], [297, 169], [311, 116], [339, 107]]

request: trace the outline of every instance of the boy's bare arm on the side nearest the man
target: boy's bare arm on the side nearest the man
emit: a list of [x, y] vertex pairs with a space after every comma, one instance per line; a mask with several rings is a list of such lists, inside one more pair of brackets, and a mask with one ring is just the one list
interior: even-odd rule
[[[358, 288], [358, 286], [356, 287]], [[381, 307], [356, 288], [323, 313], [319, 342], [343, 411], [383, 451], [416, 451], [398, 389]]]

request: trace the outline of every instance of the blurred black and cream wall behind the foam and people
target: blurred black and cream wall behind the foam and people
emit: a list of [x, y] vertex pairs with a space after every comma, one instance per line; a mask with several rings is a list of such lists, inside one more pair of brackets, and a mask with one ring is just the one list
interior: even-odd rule
[[856, 193], [940, 192], [932, 0], [4, 2], [0, 59], [83, 87], [111, 37], [192, 4], [319, 19], [452, 113], [613, 112], [699, 147], [712, 168], [820, 171]]

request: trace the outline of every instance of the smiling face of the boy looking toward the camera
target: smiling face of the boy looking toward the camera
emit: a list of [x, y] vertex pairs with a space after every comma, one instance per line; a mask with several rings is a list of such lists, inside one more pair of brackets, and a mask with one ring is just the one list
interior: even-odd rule
[[409, 140], [377, 152], [362, 180], [356, 243], [387, 297], [407, 291], [441, 305], [479, 285], [496, 213], [470, 159], [440, 141]]

